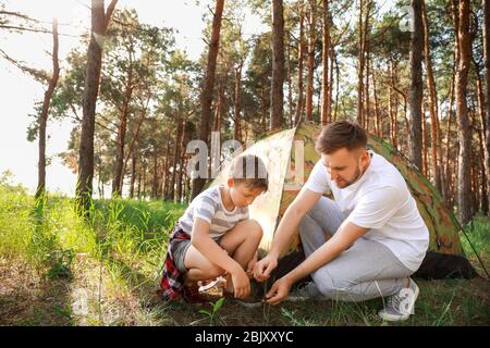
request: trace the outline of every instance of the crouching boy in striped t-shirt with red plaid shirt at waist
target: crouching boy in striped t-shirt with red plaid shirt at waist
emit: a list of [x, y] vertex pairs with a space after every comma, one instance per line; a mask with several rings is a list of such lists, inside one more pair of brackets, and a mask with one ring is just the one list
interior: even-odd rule
[[264, 162], [241, 156], [232, 162], [226, 185], [210, 187], [192, 201], [170, 236], [160, 284], [163, 299], [195, 301], [197, 281], [226, 272], [225, 291], [238, 299], [249, 295], [262, 228], [248, 219], [248, 206], [268, 185]]

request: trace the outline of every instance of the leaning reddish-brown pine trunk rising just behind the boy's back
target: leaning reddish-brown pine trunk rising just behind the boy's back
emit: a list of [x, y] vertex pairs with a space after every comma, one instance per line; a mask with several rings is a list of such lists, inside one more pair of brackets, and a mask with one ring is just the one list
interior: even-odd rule
[[[224, 0], [216, 0], [215, 15], [212, 18], [211, 42], [209, 44], [208, 63], [206, 67], [206, 77], [201, 94], [201, 114], [199, 139], [208, 144], [209, 124], [211, 122], [212, 90], [215, 88], [215, 72], [220, 44], [221, 17], [223, 15]], [[204, 188], [206, 178], [196, 177], [193, 179], [192, 198], [195, 198]]]

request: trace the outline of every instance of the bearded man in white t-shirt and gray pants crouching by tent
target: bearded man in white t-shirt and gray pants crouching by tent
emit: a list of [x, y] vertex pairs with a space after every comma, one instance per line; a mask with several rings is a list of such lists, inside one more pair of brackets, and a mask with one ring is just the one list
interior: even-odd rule
[[[419, 290], [409, 276], [424, 260], [429, 232], [403, 176], [366, 146], [357, 124], [334, 122], [322, 129], [316, 144], [321, 159], [285, 211], [254, 276], [259, 282], [270, 276], [298, 229], [306, 259], [272, 285], [267, 302], [382, 296], [388, 297], [379, 312], [383, 320], [403, 321], [414, 313]], [[329, 189], [334, 201], [322, 196]], [[292, 285], [309, 274], [314, 282], [287, 297]]]

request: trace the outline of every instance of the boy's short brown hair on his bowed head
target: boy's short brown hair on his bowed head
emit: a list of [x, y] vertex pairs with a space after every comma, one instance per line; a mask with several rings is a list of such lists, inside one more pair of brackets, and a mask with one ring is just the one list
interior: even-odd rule
[[255, 154], [242, 154], [235, 158], [230, 166], [229, 177], [236, 184], [245, 184], [252, 188], [269, 188], [269, 175], [262, 160]]

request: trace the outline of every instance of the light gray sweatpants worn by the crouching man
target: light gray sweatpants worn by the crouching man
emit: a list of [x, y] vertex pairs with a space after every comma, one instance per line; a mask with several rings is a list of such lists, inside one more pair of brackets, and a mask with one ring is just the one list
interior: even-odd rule
[[[326, 197], [308, 212], [299, 224], [305, 256], [310, 256], [333, 235], [344, 217], [334, 201]], [[342, 301], [364, 301], [391, 296], [403, 288], [407, 269], [384, 245], [357, 239], [351, 248], [311, 274], [319, 295]]]

